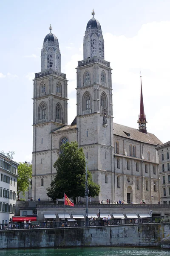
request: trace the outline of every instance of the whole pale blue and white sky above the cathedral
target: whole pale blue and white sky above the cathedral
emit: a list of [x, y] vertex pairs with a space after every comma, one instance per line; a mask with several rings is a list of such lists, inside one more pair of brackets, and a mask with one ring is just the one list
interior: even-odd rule
[[32, 160], [33, 81], [49, 26], [68, 81], [68, 124], [76, 116], [76, 67], [94, 8], [111, 62], [113, 122], [138, 128], [140, 71], [147, 131], [170, 140], [170, 0], [0, 1], [0, 151]]

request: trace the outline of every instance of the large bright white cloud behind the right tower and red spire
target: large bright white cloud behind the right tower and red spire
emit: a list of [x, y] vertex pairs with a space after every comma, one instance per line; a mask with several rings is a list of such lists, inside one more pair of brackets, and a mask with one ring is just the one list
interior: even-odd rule
[[[161, 125], [167, 120], [167, 111], [170, 108], [169, 31], [170, 21], [162, 21], [142, 25], [133, 38], [126, 38], [124, 35], [115, 36], [111, 33], [104, 34], [105, 60], [111, 61], [113, 68], [114, 122], [138, 128], [141, 70], [144, 110], [148, 120], [147, 130], [163, 142], [169, 140], [169, 125]], [[82, 45], [79, 50], [82, 52]], [[74, 68], [77, 67], [77, 61], [82, 59], [82, 55], [75, 54], [65, 65], [65, 73], [69, 79], [68, 98], [69, 93], [74, 93], [74, 88], [77, 86]], [[76, 115], [76, 92], [73, 99], [70, 100], [71, 104], [68, 103], [69, 119]], [[166, 108], [163, 108], [161, 106], [165, 101]]]

